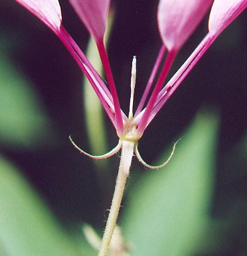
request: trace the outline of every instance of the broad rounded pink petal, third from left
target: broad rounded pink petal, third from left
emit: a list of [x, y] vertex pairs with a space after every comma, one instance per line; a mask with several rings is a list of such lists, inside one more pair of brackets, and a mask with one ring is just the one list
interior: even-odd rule
[[160, 0], [158, 28], [168, 50], [179, 50], [194, 32], [212, 0]]

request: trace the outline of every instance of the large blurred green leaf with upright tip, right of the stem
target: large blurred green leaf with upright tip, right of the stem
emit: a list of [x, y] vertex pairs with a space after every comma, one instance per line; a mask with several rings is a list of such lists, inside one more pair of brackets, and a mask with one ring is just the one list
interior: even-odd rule
[[132, 256], [192, 255], [208, 219], [216, 136], [217, 119], [201, 112], [170, 163], [130, 189], [122, 228]]

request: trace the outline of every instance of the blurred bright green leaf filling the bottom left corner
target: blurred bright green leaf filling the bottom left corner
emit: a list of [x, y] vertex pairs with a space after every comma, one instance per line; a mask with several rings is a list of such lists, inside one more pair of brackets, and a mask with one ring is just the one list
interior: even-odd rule
[[[6, 256], [78, 256], [85, 241], [72, 240], [13, 165], [0, 157], [0, 252]], [[79, 253], [79, 242], [87, 251]], [[81, 251], [81, 249], [80, 249]]]

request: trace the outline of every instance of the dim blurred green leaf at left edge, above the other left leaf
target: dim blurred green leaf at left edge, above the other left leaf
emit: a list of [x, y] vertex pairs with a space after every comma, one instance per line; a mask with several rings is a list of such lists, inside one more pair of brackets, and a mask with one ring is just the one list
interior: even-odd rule
[[15, 147], [37, 146], [48, 135], [50, 124], [38, 95], [0, 49], [0, 141]]

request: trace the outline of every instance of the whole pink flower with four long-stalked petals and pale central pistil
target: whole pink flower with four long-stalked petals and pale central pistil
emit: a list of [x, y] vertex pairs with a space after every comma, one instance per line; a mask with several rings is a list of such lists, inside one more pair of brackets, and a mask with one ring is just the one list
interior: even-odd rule
[[[113, 126], [115, 126], [117, 135], [119, 136], [119, 144], [116, 148], [113, 148], [113, 151], [101, 157], [113, 155], [119, 150], [119, 148], [121, 148], [122, 141], [128, 140], [136, 144], [136, 155], [139, 156], [138, 158], [141, 161], [142, 159], [138, 153], [137, 144], [146, 127], [160, 111], [164, 103], [169, 99], [170, 95], [172, 95], [177, 87], [179, 87], [183, 79], [185, 79], [191, 69], [193, 69], [209, 46], [211, 46], [215, 41], [217, 36], [219, 36], [219, 34], [221, 34], [221, 32], [247, 7], [247, 0], [160, 0], [157, 13], [158, 28], [162, 38], [162, 46], [142, 99], [140, 100], [136, 112], [133, 114], [136, 75], [136, 59], [134, 58], [132, 66], [130, 113], [126, 116], [119, 105], [115, 81], [111, 72], [107, 50], [103, 43], [110, 1], [70, 0], [70, 4], [75, 9], [77, 15], [79, 15], [81, 21], [89, 31], [89, 34], [93, 36], [97, 44], [109, 88], [97, 71], [95, 71], [94, 67], [87, 59], [87, 56], [83, 54], [79, 46], [62, 26], [62, 15], [58, 0], [15, 1], [26, 7], [26, 9], [41, 19], [42, 22], [44, 22], [44, 24], [46, 24], [46, 26], [48, 26], [58, 36], [58, 38], [60, 38], [93, 86], [95, 93], [97, 93], [107, 116], [109, 116]], [[197, 28], [210, 7], [211, 13], [209, 15], [209, 31], [207, 35], [203, 38], [199, 46], [197, 46], [177, 73], [175, 73], [170, 81], [164, 85], [166, 76], [179, 50]], [[166, 50], [168, 51], [166, 60], [164, 61], [164, 65], [158, 75], [157, 82], [154, 85], [150, 98], [146, 103], [147, 95], [150, 92], [154, 77], [156, 77], [156, 73], [160, 67], [162, 59], [164, 58]], [[84, 153], [84, 151], [81, 152]]]

